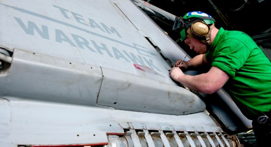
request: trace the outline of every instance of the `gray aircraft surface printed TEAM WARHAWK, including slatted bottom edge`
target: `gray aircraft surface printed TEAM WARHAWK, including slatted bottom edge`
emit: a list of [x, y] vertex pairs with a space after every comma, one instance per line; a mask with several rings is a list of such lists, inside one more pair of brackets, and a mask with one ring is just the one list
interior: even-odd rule
[[191, 56], [149, 14], [175, 18], [142, 0], [0, 0], [0, 147], [241, 147], [251, 121], [223, 89], [171, 79]]

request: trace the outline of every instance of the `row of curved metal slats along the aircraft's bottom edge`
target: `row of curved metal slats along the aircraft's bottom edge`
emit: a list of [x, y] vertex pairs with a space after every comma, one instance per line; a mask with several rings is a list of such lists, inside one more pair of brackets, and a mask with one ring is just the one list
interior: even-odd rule
[[128, 129], [124, 135], [107, 135], [106, 147], [239, 147], [235, 135], [221, 132], [176, 132]]

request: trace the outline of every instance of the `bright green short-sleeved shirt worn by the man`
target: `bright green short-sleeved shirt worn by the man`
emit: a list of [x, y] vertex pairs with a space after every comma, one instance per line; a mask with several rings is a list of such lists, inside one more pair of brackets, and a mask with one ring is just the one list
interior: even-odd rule
[[271, 62], [251, 37], [220, 28], [205, 57], [229, 75], [224, 87], [248, 119], [271, 110]]

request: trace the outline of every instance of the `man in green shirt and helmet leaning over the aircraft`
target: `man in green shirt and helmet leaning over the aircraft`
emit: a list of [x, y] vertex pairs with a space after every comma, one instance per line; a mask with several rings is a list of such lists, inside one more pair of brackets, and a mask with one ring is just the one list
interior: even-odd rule
[[[252, 120], [257, 146], [271, 139], [271, 62], [244, 32], [215, 27], [208, 14], [194, 11], [175, 20], [181, 41], [199, 55], [187, 62], [176, 61], [172, 79], [198, 92], [213, 94], [223, 88], [242, 113]], [[173, 29], [175, 29], [173, 28]], [[209, 64], [208, 72], [186, 75], [180, 68]]]

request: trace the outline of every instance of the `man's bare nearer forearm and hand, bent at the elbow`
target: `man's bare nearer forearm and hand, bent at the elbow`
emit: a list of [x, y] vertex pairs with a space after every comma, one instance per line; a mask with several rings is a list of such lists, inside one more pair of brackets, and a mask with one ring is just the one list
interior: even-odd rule
[[198, 75], [186, 75], [180, 68], [173, 67], [170, 74], [173, 80], [188, 88], [207, 94], [213, 94], [220, 90], [229, 79], [228, 74], [217, 67], [212, 67], [208, 73]]

